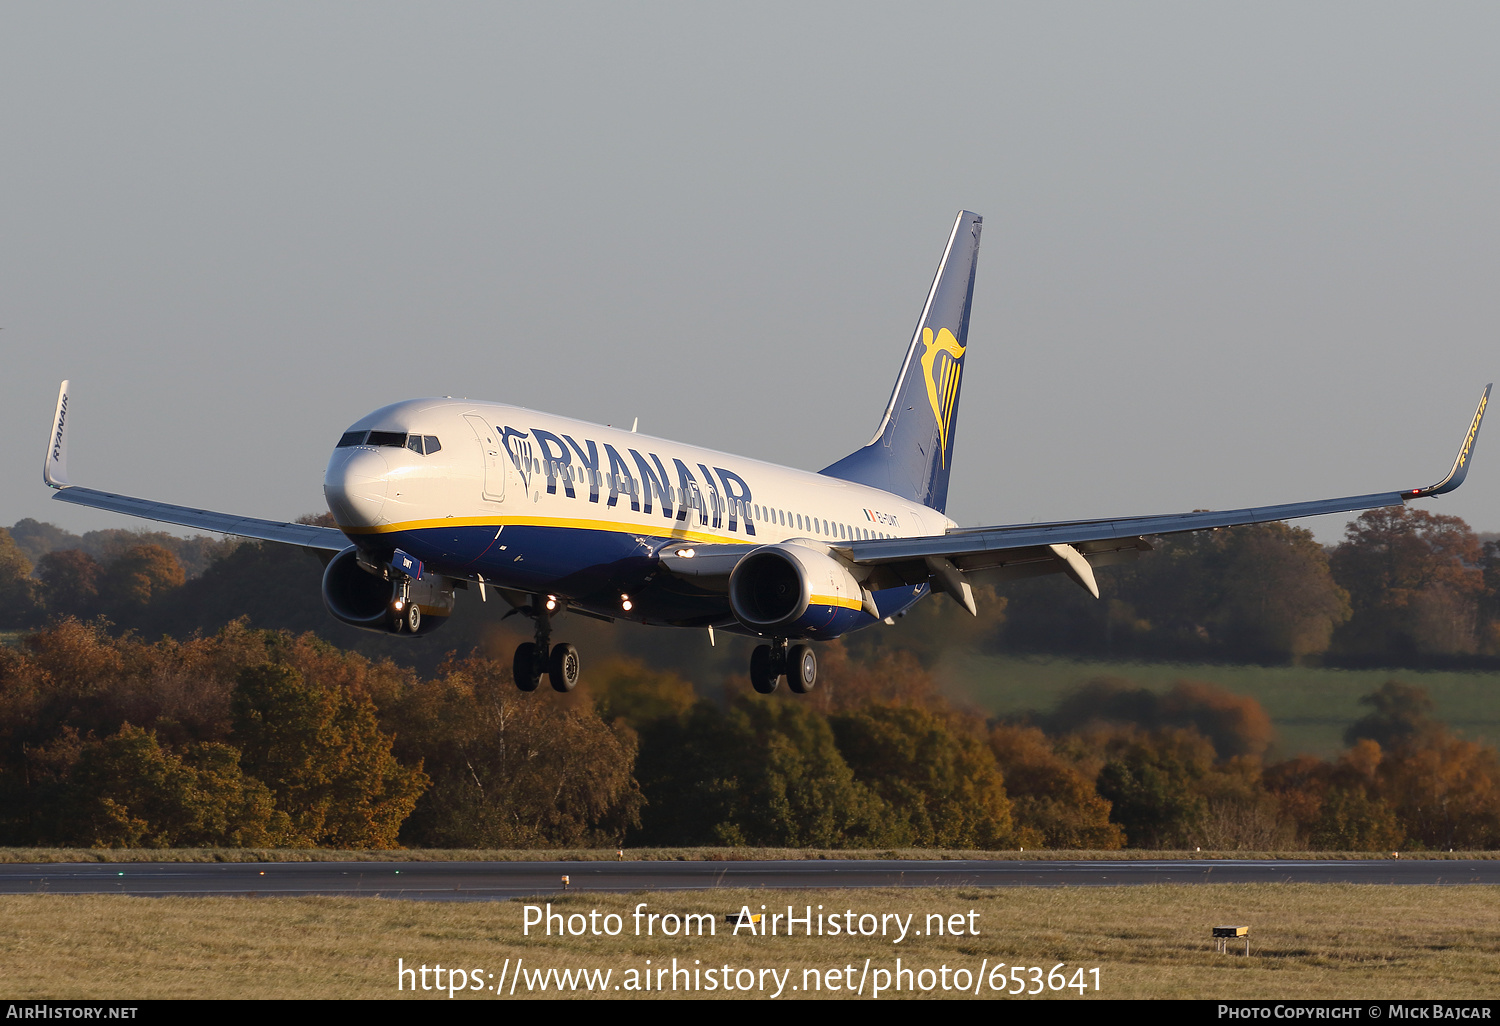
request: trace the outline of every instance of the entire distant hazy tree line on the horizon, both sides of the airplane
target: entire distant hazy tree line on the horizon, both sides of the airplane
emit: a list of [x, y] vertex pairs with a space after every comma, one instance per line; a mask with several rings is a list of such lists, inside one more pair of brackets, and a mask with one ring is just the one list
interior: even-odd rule
[[[318, 518], [304, 518], [312, 522]], [[980, 588], [980, 616], [945, 598], [891, 628], [850, 638], [860, 651], [942, 650], [1152, 660], [1254, 660], [1428, 668], [1500, 668], [1500, 542], [1461, 519], [1410, 507], [1371, 510], [1336, 546], [1284, 524], [1152, 538], [1138, 561], [1100, 572], [1095, 600], [1060, 576]], [[212, 633], [249, 616], [256, 627], [315, 632], [372, 657], [434, 672], [446, 651], [498, 645], [496, 616], [465, 594], [441, 640], [412, 646], [333, 621], [321, 566], [285, 546], [94, 531], [68, 536], [22, 520], [0, 531], [0, 627], [56, 616], [108, 618], [116, 630]], [[590, 651], [666, 658], [698, 676], [728, 672], [696, 636], [582, 626]], [[506, 640], [510, 636], [506, 634]], [[494, 646], [492, 645], [492, 646]], [[728, 654], [724, 654], [728, 656]]]

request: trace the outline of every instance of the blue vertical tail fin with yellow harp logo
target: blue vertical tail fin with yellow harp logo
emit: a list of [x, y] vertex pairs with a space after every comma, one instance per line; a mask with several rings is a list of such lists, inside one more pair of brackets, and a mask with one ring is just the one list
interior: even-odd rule
[[982, 225], [980, 214], [958, 212], [874, 438], [822, 474], [946, 508]]

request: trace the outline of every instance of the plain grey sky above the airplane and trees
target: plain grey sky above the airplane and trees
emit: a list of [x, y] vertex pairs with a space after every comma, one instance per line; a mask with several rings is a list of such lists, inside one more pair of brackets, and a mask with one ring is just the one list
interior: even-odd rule
[[[0, 3], [0, 524], [321, 510], [465, 394], [816, 470], [986, 216], [950, 514], [1428, 484], [1497, 376], [1500, 6]], [[1500, 530], [1500, 424], [1426, 504]], [[1312, 524], [1335, 540], [1347, 518]]]

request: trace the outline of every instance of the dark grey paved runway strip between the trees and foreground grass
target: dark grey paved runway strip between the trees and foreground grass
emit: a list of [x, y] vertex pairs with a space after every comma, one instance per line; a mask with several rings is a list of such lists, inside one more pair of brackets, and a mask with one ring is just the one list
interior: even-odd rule
[[484, 902], [562, 891], [716, 886], [1119, 886], [1500, 884], [1500, 861], [798, 862], [52, 862], [0, 866], [0, 894], [306, 894]]

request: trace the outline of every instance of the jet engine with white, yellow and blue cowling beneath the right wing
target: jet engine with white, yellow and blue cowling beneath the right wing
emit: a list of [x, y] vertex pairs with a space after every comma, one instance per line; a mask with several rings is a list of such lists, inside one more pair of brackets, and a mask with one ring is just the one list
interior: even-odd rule
[[729, 574], [735, 620], [768, 638], [837, 638], [866, 616], [862, 594], [843, 562], [804, 544], [764, 544]]

